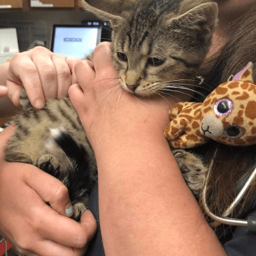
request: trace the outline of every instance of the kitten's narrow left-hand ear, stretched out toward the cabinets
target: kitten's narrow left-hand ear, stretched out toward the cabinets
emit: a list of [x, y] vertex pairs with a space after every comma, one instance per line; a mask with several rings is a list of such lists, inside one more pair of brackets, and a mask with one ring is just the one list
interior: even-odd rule
[[[100, 2], [101, 4], [97, 4], [98, 2]], [[103, 3], [104, 3], [104, 1], [103, 1]], [[118, 26], [118, 24], [120, 24], [122, 22], [123, 18], [121, 16], [117, 15], [117, 14], [112, 13], [113, 10], [111, 9], [111, 3], [112, 2], [110, 2], [110, 5], [105, 3], [105, 8], [104, 9], [106, 9], [106, 11], [101, 10], [101, 8], [102, 8], [102, 2], [101, 1], [95, 1], [95, 0], [94, 1], [92, 1], [92, 0], [87, 0], [87, 1], [81, 0], [81, 7], [84, 10], [92, 12], [93, 14], [95, 14], [97, 17], [99, 17], [102, 20], [110, 21], [111, 26], [116, 27], [116, 26]], [[108, 6], [110, 8], [108, 8]], [[97, 7], [99, 7], [100, 9], [98, 9]], [[111, 12], [108, 12], [108, 9]]]

